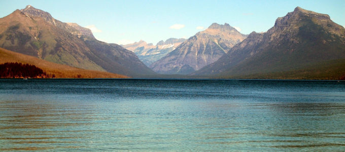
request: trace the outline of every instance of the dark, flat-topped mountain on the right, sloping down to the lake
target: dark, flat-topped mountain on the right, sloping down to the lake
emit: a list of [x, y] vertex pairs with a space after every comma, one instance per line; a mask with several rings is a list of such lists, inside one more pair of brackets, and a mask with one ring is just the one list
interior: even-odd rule
[[[339, 79], [345, 75], [344, 61], [345, 29], [326, 14], [297, 7], [278, 18], [267, 32], [252, 32], [218, 61], [192, 75], [248, 79]], [[344, 73], [339, 73], [339, 69]]]

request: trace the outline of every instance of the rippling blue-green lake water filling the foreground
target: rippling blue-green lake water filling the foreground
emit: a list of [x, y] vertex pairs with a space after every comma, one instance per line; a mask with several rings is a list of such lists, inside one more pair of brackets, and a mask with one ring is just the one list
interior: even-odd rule
[[0, 80], [0, 151], [344, 151], [345, 82]]

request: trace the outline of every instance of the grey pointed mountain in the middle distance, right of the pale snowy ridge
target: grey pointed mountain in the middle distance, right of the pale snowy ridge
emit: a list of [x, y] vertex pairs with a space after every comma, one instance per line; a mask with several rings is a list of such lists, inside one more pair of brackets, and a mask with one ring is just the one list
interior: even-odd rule
[[246, 35], [227, 23], [213, 23], [151, 64], [150, 68], [162, 74], [188, 74], [217, 61], [245, 38]]

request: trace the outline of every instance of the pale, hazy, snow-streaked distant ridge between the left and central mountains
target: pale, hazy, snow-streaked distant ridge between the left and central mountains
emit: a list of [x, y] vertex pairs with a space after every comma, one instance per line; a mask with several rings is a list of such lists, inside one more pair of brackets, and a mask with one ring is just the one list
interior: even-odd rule
[[154, 46], [151, 43], [147, 44], [145, 41], [141, 40], [133, 44], [123, 45], [122, 47], [133, 51], [145, 65], [149, 66], [172, 50], [175, 50], [177, 46], [185, 41], [186, 39], [170, 38], [165, 42], [159, 41], [157, 45]]

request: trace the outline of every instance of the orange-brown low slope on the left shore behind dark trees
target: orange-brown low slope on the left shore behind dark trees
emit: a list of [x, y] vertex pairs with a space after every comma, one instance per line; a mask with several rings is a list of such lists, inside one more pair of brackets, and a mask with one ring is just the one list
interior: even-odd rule
[[0, 64], [6, 62], [32, 64], [43, 69], [47, 74], [55, 74], [56, 78], [128, 78], [127, 76], [121, 74], [95, 70], [85, 70], [67, 65], [56, 64], [38, 59], [36, 57], [0, 48]]

